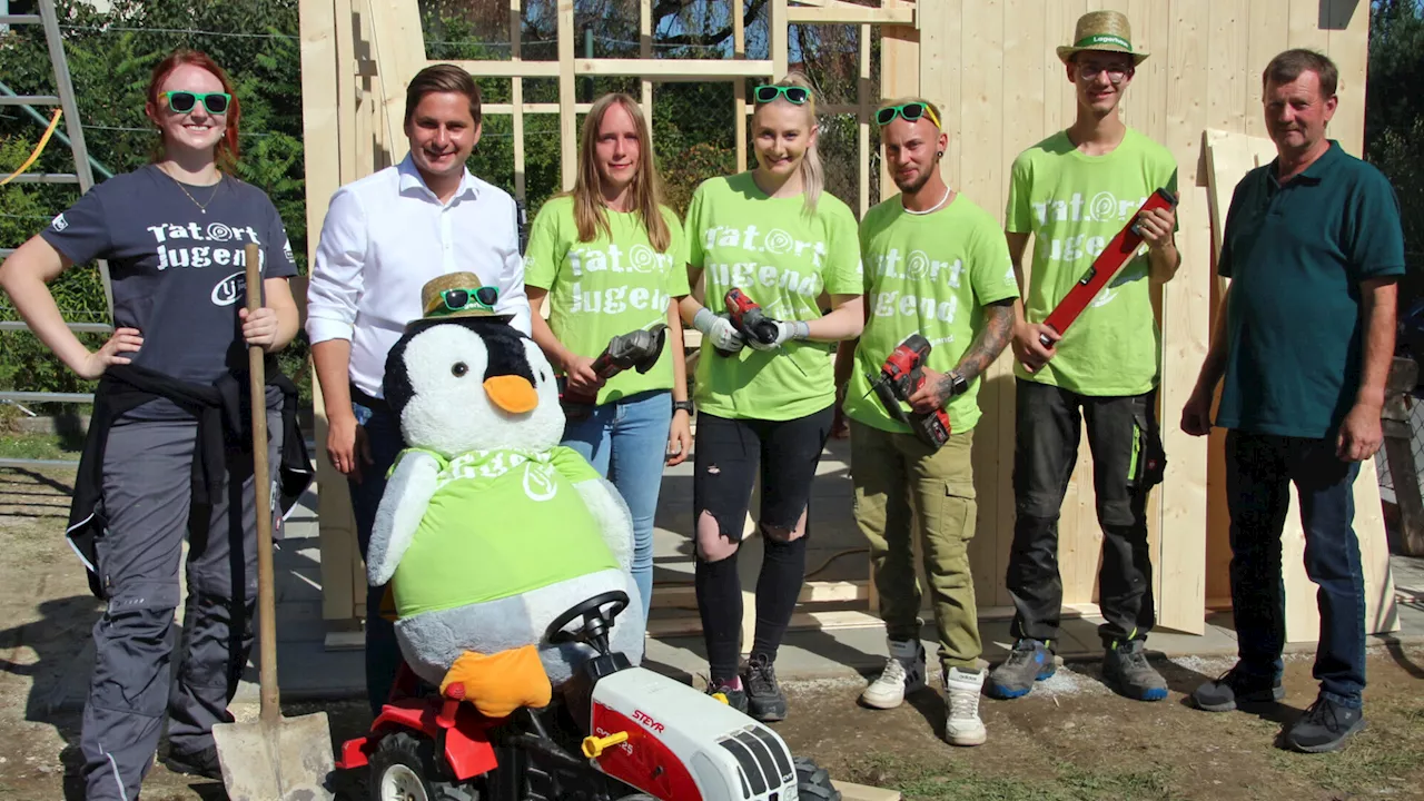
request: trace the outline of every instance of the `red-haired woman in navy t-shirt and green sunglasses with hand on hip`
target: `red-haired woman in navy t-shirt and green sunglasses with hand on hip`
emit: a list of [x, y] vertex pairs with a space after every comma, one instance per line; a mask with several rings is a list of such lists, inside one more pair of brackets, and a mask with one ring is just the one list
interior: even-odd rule
[[[108, 601], [80, 741], [91, 801], [138, 798], [165, 713], [168, 767], [221, 778], [211, 730], [232, 720], [256, 600], [246, 351], [273, 353], [298, 331], [282, 219], [234, 174], [239, 104], [224, 70], [174, 53], [154, 68], [144, 110], [159, 134], [154, 162], [95, 185], [0, 265], [0, 288], [30, 329], [98, 379], [68, 529]], [[245, 308], [249, 242], [262, 261], [255, 314]], [[90, 352], [47, 282], [94, 259], [108, 259], [114, 335]], [[273, 362], [266, 375], [269, 459], [283, 459], [283, 477], [309, 476], [295, 388]], [[172, 670], [185, 537], [185, 653]]]

